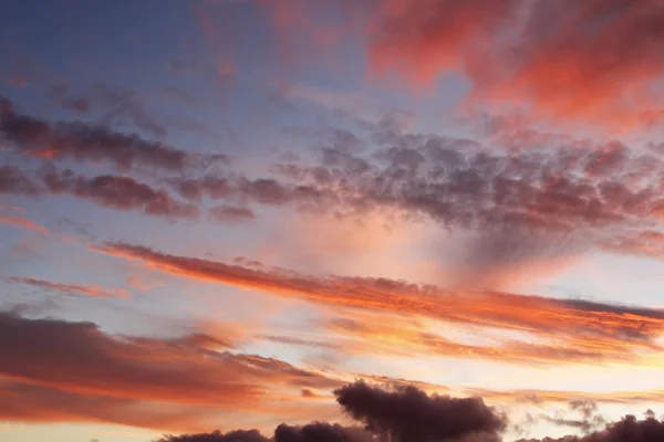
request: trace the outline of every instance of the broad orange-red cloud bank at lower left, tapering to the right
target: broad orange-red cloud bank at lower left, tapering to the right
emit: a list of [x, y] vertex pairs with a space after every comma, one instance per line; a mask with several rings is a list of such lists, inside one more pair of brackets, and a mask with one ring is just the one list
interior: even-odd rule
[[[91, 323], [2, 313], [0, 335], [12, 336], [0, 343], [0, 390], [21, 398], [1, 401], [0, 419], [152, 427], [151, 421], [173, 415], [178, 407], [189, 412], [256, 411], [279, 397], [298, 398], [302, 388], [340, 386], [278, 359], [231, 352], [224, 337], [204, 334], [169, 339], [112, 336]], [[24, 404], [30, 403], [38, 409], [29, 410]], [[86, 411], [86, 403], [100, 407]]]

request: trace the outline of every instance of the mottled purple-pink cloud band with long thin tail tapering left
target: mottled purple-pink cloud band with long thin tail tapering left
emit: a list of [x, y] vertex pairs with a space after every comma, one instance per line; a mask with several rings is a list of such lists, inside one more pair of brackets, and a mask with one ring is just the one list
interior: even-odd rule
[[[490, 228], [498, 236], [516, 228], [525, 236], [575, 233], [574, 240], [582, 236], [589, 245], [611, 228], [652, 223], [664, 212], [662, 161], [619, 143], [500, 151], [437, 135], [390, 129], [374, 135], [377, 146], [370, 152], [357, 151], [346, 137], [318, 149], [310, 164], [277, 164], [272, 169], [282, 179], [221, 173], [169, 185], [191, 200], [208, 196], [357, 217], [388, 210], [448, 229]], [[528, 256], [533, 253], [539, 252]]]

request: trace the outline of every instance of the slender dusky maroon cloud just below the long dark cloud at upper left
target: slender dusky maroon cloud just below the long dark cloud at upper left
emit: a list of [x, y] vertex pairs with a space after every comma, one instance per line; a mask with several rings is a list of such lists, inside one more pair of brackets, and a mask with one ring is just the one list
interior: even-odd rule
[[51, 193], [68, 193], [116, 210], [139, 210], [154, 217], [195, 219], [198, 207], [174, 200], [163, 189], [136, 181], [128, 176], [102, 175], [87, 178], [66, 169], [48, 172], [43, 180]]

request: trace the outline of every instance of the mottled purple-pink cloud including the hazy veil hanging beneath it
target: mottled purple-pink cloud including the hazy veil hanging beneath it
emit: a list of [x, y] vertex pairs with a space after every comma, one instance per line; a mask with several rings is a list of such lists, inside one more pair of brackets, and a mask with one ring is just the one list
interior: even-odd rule
[[323, 213], [438, 223], [454, 232], [432, 250], [442, 266], [459, 285], [490, 288], [615, 251], [621, 233], [653, 229], [664, 213], [661, 159], [618, 141], [504, 151], [438, 135], [374, 135], [371, 152], [340, 145], [309, 162], [280, 162], [283, 179], [270, 186], [280, 198], [269, 201], [302, 209], [289, 190], [300, 186], [323, 196], [304, 206]]

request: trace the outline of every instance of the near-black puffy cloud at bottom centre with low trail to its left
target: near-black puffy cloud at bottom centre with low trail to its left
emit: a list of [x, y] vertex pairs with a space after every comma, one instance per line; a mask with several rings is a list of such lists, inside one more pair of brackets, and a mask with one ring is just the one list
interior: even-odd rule
[[270, 439], [257, 430], [234, 430], [167, 435], [159, 442], [497, 442], [506, 427], [506, 418], [479, 398], [428, 397], [413, 386], [391, 393], [361, 382], [342, 387], [335, 394], [342, 408], [365, 428], [313, 421], [304, 425], [282, 423]]

